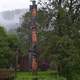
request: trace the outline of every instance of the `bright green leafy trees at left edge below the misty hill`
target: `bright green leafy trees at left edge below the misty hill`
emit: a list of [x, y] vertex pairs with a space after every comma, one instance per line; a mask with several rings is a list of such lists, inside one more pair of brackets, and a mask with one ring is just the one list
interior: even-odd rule
[[7, 34], [4, 28], [0, 27], [0, 68], [9, 68], [11, 64], [15, 64], [15, 50], [12, 46], [16, 43], [16, 36]]

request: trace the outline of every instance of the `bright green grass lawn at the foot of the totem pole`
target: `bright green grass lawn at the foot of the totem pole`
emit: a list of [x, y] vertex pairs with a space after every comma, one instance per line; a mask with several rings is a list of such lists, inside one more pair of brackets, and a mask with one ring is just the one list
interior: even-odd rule
[[33, 77], [37, 77], [38, 80], [65, 80], [63, 77], [59, 77], [56, 72], [52, 71], [38, 72], [37, 76], [33, 76], [31, 72], [16, 73], [16, 80], [32, 80]]

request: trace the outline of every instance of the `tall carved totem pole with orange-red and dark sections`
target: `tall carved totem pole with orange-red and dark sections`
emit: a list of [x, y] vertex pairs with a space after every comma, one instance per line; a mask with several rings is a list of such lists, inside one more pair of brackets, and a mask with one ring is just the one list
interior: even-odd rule
[[32, 0], [32, 5], [30, 5], [31, 12], [31, 48], [29, 50], [29, 60], [30, 68], [33, 74], [33, 80], [37, 80], [37, 70], [38, 70], [38, 51], [37, 51], [37, 28], [36, 28], [36, 17], [37, 17], [37, 5], [36, 1]]

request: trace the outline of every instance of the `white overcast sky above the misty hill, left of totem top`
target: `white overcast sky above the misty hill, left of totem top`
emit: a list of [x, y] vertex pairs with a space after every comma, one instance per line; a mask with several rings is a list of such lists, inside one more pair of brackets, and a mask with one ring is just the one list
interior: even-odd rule
[[29, 8], [31, 0], [0, 0], [0, 12], [5, 10]]

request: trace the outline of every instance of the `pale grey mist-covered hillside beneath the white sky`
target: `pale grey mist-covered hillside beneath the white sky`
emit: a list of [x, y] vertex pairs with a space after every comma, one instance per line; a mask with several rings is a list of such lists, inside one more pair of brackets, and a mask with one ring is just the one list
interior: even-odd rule
[[16, 9], [0, 12], [0, 25], [4, 26], [7, 30], [15, 29], [20, 25], [20, 18], [26, 11], [26, 9]]

